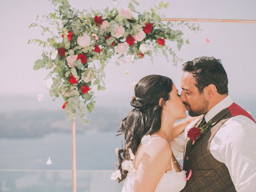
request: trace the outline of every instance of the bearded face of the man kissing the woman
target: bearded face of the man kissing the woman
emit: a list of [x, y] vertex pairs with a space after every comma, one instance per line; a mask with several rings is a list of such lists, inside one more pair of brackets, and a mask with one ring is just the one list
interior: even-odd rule
[[209, 105], [204, 92], [200, 93], [195, 84], [196, 79], [191, 72], [182, 73], [180, 84], [182, 92], [180, 98], [186, 106], [188, 114], [192, 117], [206, 114]]

